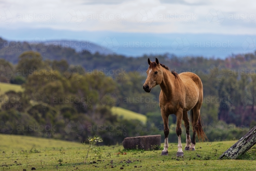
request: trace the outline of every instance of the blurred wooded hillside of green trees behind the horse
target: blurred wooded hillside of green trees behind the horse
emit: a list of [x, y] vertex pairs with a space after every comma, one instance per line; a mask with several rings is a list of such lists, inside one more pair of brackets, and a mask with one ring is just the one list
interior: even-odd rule
[[[51, 46], [47, 53], [29, 51], [26, 42], [22, 43], [20, 54], [1, 55], [0, 120], [10, 122], [12, 134], [71, 141], [82, 142], [95, 134], [101, 135], [104, 144], [109, 145], [121, 143], [129, 136], [161, 134], [163, 139], [158, 100], [161, 89], [156, 86], [151, 93], [145, 93], [142, 88], [147, 58], [154, 61], [155, 57], [178, 73], [190, 71], [201, 78], [204, 86], [201, 117], [210, 141], [238, 139], [256, 125], [255, 54], [232, 55], [226, 59], [170, 54], [134, 58], [76, 53], [74, 49]], [[21, 85], [21, 88], [5, 88], [3, 93], [4, 83]], [[143, 114], [147, 121], [114, 115], [116, 106]], [[65, 127], [70, 121], [79, 121], [84, 131], [67, 132]], [[31, 125], [53, 128], [41, 131], [27, 128]], [[169, 125], [169, 141], [176, 142], [175, 115], [170, 115]], [[183, 134], [185, 142], [185, 128]]]

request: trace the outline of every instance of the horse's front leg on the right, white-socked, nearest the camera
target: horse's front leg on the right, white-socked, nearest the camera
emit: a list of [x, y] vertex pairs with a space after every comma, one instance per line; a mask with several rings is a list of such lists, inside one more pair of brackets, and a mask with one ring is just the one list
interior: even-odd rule
[[176, 127], [176, 134], [178, 136], [178, 152], [177, 152], [177, 157], [183, 156], [183, 151], [182, 151], [182, 144], [181, 144], [181, 123], [182, 123], [182, 117], [183, 117], [183, 111], [182, 109], [178, 109], [176, 112], [176, 117], [177, 117], [177, 127]]

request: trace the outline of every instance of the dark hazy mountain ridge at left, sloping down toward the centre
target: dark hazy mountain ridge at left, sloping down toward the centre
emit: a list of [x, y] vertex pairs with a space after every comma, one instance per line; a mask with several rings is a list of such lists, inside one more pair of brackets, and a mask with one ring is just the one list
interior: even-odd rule
[[[35, 38], [33, 41], [19, 42], [7, 41], [0, 37], [0, 58], [16, 64], [19, 55], [25, 51], [37, 51], [42, 54], [44, 59], [65, 59], [71, 63], [74, 61], [74, 56], [78, 57], [79, 54], [95, 54], [96, 52], [101, 55], [114, 54], [104, 45], [101, 47], [89, 41], [46, 41], [46, 39]], [[81, 59], [77, 60], [77, 63], [81, 62]]]

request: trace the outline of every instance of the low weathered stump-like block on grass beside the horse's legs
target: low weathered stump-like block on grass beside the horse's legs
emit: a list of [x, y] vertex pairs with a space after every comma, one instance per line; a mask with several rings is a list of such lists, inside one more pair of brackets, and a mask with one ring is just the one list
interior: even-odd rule
[[124, 148], [136, 148], [150, 150], [152, 147], [161, 146], [161, 135], [148, 135], [128, 137], [123, 140]]

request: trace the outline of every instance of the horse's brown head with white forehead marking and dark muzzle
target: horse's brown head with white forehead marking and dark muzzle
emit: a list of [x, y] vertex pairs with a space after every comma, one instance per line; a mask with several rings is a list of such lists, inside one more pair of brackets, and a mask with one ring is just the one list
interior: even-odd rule
[[150, 93], [153, 87], [162, 82], [163, 71], [157, 58], [155, 62], [151, 62], [148, 58], [147, 62], [149, 67], [147, 69], [147, 79], [143, 85], [143, 89], [145, 92]]

